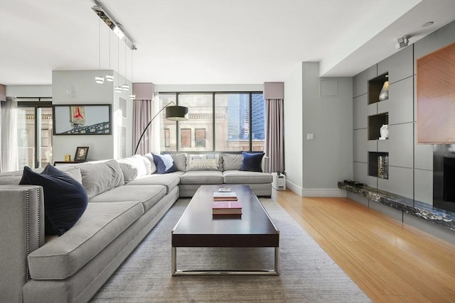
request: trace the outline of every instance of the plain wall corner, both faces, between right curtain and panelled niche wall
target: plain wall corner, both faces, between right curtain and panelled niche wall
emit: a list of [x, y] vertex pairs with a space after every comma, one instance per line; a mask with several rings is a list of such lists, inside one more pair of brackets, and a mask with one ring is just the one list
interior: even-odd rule
[[346, 195], [337, 182], [353, 178], [352, 89], [351, 77], [319, 77], [319, 62], [302, 62], [284, 82], [287, 184], [301, 196]]

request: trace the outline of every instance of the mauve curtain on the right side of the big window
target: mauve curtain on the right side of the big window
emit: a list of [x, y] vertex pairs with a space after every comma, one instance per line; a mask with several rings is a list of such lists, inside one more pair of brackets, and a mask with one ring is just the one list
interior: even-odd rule
[[265, 153], [270, 158], [270, 172], [284, 171], [283, 99], [266, 99], [265, 115], [267, 135]]

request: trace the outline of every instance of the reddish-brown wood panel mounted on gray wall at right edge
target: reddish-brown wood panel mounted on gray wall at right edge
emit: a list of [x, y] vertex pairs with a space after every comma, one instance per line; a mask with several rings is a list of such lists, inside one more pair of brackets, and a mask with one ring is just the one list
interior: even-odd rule
[[455, 143], [455, 43], [417, 60], [417, 141]]

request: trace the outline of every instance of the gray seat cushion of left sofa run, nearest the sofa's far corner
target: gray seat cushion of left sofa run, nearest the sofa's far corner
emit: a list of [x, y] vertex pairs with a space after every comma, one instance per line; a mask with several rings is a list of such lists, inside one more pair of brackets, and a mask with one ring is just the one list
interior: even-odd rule
[[[128, 185], [115, 187], [108, 192], [103, 192], [90, 199], [90, 203], [110, 203], [123, 201], [137, 201], [144, 204], [144, 210], [148, 211], [159, 200], [166, 196], [164, 185]], [[90, 204], [89, 203], [89, 204]]]

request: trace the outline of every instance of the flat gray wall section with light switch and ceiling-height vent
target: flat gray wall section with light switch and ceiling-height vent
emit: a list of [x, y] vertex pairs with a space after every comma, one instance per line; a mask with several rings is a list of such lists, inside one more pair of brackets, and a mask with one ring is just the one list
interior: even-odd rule
[[319, 62], [304, 62], [302, 74], [303, 196], [346, 196], [338, 182], [353, 177], [352, 77], [320, 78]]

